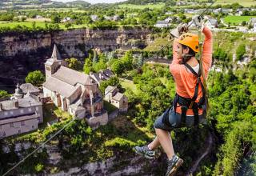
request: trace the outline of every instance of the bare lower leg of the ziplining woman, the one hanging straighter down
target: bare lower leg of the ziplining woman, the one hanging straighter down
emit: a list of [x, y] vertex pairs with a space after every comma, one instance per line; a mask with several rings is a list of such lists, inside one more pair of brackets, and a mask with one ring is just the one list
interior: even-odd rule
[[162, 149], [166, 152], [168, 159], [173, 158], [174, 146], [170, 138], [170, 133], [166, 130], [162, 130], [158, 128], [155, 128], [155, 133], [157, 134], [158, 142], [160, 142]]

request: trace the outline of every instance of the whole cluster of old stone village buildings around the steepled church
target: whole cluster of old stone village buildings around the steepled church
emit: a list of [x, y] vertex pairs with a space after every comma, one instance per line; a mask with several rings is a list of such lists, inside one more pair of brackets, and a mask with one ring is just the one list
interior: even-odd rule
[[0, 138], [37, 130], [38, 124], [44, 122], [42, 106], [46, 103], [54, 103], [74, 118], [85, 118], [93, 129], [108, 122], [103, 101], [110, 102], [121, 113], [128, 110], [128, 99], [118, 88], [107, 86], [103, 93], [98, 89], [103, 80], [114, 75], [111, 70], [86, 75], [66, 66], [54, 45], [45, 63], [46, 82], [42, 87], [18, 83], [13, 96], [0, 101]]

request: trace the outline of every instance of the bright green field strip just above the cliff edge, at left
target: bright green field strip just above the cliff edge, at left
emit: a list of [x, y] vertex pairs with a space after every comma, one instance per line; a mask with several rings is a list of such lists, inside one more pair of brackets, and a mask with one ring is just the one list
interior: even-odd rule
[[[50, 24], [50, 23], [48, 23]], [[32, 22], [1, 22], [0, 21], [0, 27], [4, 26], [9, 26], [10, 28], [14, 28], [14, 26], [27, 26], [27, 27], [32, 27]], [[42, 28], [46, 27], [46, 22], [35, 22], [35, 26], [39, 26]], [[60, 23], [59, 24], [61, 29], [66, 29], [65, 24]], [[87, 27], [88, 25], [82, 24], [82, 25], [73, 25], [72, 28], [82, 28], [82, 27]]]

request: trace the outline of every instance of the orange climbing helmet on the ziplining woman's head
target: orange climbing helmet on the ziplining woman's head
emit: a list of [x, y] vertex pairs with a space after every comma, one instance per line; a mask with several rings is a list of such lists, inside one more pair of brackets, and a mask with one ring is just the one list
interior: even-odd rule
[[199, 39], [198, 39], [198, 35], [196, 34], [192, 34], [192, 33], [182, 34], [178, 38], [177, 42], [184, 46], [189, 46], [196, 53], [198, 53], [199, 51]]

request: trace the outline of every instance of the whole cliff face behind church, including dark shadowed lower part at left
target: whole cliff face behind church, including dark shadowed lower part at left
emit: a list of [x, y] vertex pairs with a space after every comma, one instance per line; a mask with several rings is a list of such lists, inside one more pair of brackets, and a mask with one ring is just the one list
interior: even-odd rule
[[[52, 33], [1, 34], [0, 78], [4, 84], [23, 82], [28, 72], [44, 71], [56, 44], [62, 58], [85, 58], [88, 50], [129, 50], [143, 48], [150, 30], [141, 27], [115, 30], [78, 29]], [[13, 79], [13, 80], [10, 80]]]

